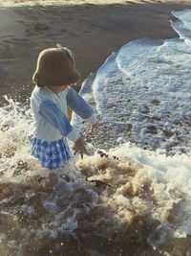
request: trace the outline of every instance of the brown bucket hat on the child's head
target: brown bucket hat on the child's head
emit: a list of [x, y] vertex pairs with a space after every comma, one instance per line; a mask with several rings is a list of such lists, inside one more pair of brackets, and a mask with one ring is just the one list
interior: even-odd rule
[[80, 74], [74, 67], [74, 55], [71, 50], [60, 44], [40, 52], [36, 70], [32, 76], [38, 86], [61, 86], [79, 80]]

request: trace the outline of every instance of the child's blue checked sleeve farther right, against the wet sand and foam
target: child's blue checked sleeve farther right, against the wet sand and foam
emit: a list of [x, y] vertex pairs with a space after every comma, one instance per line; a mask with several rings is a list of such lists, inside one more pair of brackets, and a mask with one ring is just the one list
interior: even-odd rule
[[66, 96], [67, 105], [81, 118], [94, 125], [97, 122], [96, 115], [89, 105], [72, 87], [69, 88]]

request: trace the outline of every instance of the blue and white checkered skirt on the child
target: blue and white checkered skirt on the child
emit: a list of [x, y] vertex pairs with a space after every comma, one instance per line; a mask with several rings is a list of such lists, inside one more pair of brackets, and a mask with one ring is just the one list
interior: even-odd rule
[[71, 157], [67, 139], [62, 137], [57, 141], [42, 141], [28, 135], [31, 142], [32, 155], [36, 157], [40, 164], [48, 169], [55, 169], [64, 164]]

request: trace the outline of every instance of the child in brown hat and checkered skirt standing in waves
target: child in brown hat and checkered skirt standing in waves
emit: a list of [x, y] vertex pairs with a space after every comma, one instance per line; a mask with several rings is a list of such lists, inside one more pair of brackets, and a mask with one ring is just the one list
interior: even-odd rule
[[66, 47], [57, 44], [55, 48], [43, 50], [37, 59], [32, 76], [35, 86], [31, 96], [32, 155], [42, 167], [55, 169], [72, 156], [67, 139], [74, 142], [74, 154], [83, 157], [87, 153], [81, 134], [73, 128], [68, 118], [68, 107], [98, 129], [98, 120], [93, 108], [74, 90], [80, 78], [74, 66], [74, 55]]

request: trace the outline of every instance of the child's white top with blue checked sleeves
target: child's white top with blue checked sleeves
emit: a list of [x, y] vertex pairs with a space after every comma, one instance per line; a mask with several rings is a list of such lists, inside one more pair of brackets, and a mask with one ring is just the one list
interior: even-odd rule
[[[42, 105], [44, 110], [42, 110]], [[71, 107], [90, 124], [96, 124], [97, 119], [93, 108], [72, 87], [68, 86], [64, 91], [54, 93], [46, 86], [35, 86], [31, 96], [32, 134], [42, 141], [57, 141], [64, 134], [75, 142], [80, 134], [68, 120], [68, 107]], [[49, 116], [45, 113], [46, 108], [49, 108]]]

